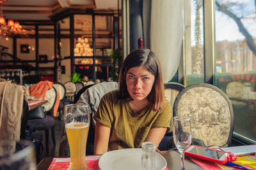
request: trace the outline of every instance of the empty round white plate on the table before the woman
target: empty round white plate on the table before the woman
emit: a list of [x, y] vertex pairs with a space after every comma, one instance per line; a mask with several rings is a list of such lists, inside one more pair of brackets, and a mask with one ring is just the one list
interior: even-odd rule
[[[140, 148], [108, 151], [100, 157], [99, 167], [102, 170], [141, 169], [141, 154]], [[165, 167], [165, 158], [156, 153], [156, 169], [160, 170]]]

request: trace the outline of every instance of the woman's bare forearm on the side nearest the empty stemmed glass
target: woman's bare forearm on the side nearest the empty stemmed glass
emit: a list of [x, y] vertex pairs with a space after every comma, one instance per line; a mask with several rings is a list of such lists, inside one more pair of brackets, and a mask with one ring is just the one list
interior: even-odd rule
[[158, 148], [159, 143], [162, 141], [167, 128], [151, 128], [145, 142], [153, 142]]

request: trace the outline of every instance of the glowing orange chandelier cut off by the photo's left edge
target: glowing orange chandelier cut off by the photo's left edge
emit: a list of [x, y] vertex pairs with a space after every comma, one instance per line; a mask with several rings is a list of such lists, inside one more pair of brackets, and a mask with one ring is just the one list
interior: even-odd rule
[[7, 0], [0, 0], [0, 36], [12, 36], [22, 31], [22, 27], [17, 21], [14, 22], [12, 19], [9, 19], [6, 24], [2, 11], [2, 6], [4, 3], [6, 3], [6, 1]]

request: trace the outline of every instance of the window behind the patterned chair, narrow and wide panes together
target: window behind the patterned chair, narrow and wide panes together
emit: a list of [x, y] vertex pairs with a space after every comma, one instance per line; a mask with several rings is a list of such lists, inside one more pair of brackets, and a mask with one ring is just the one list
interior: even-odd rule
[[[204, 67], [212, 61], [213, 84], [224, 91], [234, 109], [234, 137], [245, 143], [256, 143], [256, 3], [253, 0], [191, 0], [190, 20], [185, 33], [184, 85], [204, 82]], [[215, 2], [215, 11], [209, 4]], [[215, 13], [214, 55], [209, 49], [203, 25], [206, 15]], [[205, 24], [206, 25], [206, 24]], [[214, 42], [212, 38], [212, 42]], [[204, 42], [205, 40], [205, 42]], [[205, 54], [204, 54], [205, 53]], [[205, 55], [205, 56], [204, 56]], [[207, 67], [206, 72], [209, 73]]]

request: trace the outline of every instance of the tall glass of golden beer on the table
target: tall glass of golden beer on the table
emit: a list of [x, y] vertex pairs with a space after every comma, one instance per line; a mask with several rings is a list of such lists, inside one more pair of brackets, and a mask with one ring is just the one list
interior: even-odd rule
[[85, 160], [90, 125], [89, 106], [86, 104], [65, 105], [64, 121], [70, 148], [69, 169], [89, 169]]

